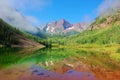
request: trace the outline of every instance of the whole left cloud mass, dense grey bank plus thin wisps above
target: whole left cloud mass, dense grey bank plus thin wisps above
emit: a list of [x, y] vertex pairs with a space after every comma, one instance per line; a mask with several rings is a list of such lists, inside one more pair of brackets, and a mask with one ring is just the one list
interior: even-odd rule
[[33, 24], [38, 24], [39, 20], [34, 16], [24, 16], [22, 12], [36, 10], [36, 8], [47, 5], [48, 3], [45, 3], [45, 1], [46, 0], [0, 0], [0, 18], [18, 29], [37, 33], [38, 30]]

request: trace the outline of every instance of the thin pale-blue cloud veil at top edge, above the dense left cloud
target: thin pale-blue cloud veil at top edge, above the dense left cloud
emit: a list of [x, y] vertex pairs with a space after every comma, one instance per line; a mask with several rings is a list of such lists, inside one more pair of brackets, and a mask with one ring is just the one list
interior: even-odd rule
[[43, 7], [50, 5], [52, 0], [12, 0], [14, 7], [20, 11], [41, 10]]

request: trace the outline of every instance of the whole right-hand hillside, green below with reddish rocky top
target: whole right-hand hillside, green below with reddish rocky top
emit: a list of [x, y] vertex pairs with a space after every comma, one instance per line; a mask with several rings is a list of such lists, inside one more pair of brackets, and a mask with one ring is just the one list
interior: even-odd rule
[[67, 44], [120, 44], [120, 11], [99, 16], [84, 32], [71, 36]]

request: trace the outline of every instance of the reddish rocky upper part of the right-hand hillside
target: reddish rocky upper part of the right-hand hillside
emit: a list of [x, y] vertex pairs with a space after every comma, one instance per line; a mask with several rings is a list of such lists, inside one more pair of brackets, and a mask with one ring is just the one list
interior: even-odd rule
[[113, 24], [120, 25], [120, 10], [115, 11], [114, 13], [101, 15], [90, 25], [88, 29], [95, 30], [101, 28], [109, 28]]

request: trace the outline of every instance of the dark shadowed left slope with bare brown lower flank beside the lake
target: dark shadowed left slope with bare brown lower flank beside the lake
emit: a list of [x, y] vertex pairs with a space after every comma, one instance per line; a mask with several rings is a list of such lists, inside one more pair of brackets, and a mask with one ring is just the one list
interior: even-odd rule
[[31, 40], [25, 35], [17, 30], [16, 28], [11, 27], [9, 24], [0, 19], [0, 44], [10, 47], [33, 47], [40, 46], [38, 42]]

